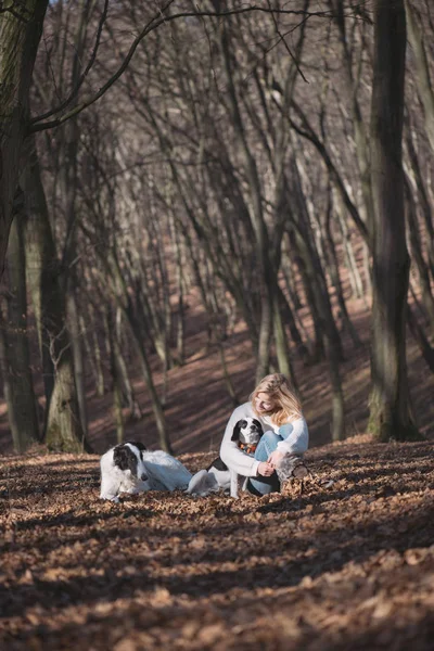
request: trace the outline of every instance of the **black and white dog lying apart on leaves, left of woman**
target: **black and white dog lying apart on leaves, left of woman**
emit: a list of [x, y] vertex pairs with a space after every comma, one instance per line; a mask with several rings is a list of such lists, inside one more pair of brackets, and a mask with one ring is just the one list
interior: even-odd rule
[[186, 489], [191, 473], [163, 450], [148, 451], [142, 443], [116, 445], [100, 460], [101, 499], [118, 502], [120, 493]]

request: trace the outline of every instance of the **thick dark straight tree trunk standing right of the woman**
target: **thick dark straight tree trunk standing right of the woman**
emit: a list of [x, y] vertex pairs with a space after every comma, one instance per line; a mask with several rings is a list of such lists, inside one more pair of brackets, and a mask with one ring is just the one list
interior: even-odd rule
[[407, 290], [401, 139], [406, 54], [404, 0], [374, 2], [371, 162], [374, 199], [372, 392], [369, 431], [379, 441], [419, 436], [406, 363]]

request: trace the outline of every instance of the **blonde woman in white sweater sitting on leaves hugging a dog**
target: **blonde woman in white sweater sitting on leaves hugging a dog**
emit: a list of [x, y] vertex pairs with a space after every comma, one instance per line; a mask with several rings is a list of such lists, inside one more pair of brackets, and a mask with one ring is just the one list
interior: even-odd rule
[[[257, 418], [264, 429], [254, 456], [245, 454], [235, 441], [231, 441], [235, 423], [246, 417]], [[309, 433], [299, 399], [288, 378], [273, 373], [259, 382], [248, 403], [232, 412], [221, 442], [220, 457], [230, 470], [248, 477], [247, 490], [267, 495], [280, 490], [281, 483], [291, 476], [306, 476], [308, 471], [302, 457], [308, 443]]]

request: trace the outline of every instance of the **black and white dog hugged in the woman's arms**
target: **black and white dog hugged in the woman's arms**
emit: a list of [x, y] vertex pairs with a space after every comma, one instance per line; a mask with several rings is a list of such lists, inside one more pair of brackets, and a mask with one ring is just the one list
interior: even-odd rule
[[[256, 418], [246, 417], [233, 427], [231, 441], [235, 441], [245, 454], [253, 456], [263, 434], [260, 422]], [[231, 473], [221, 457], [214, 459], [206, 470], [201, 470], [192, 477], [188, 493], [207, 495], [219, 489], [231, 490]]]

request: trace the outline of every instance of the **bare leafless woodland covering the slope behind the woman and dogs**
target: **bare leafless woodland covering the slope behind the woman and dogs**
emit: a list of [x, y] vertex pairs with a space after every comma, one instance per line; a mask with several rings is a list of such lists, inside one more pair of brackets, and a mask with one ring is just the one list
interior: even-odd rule
[[273, 370], [314, 445], [369, 414], [385, 441], [432, 434], [434, 18], [394, 4], [375, 50], [387, 7], [47, 7], [3, 275], [4, 450], [215, 448]]

